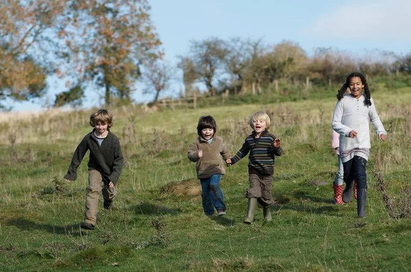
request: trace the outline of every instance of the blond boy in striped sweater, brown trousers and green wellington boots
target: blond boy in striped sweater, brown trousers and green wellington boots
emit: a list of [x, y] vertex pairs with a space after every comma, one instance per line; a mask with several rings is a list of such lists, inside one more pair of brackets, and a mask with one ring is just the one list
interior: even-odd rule
[[247, 218], [244, 223], [251, 224], [254, 219], [254, 210], [257, 202], [263, 208], [264, 220], [271, 221], [270, 206], [274, 204], [271, 195], [273, 187], [275, 156], [281, 156], [283, 150], [281, 140], [269, 133], [270, 118], [262, 111], [251, 115], [249, 125], [253, 133], [245, 138], [245, 143], [236, 156], [227, 159], [227, 165], [233, 165], [249, 154], [249, 182], [247, 189], [248, 207]]

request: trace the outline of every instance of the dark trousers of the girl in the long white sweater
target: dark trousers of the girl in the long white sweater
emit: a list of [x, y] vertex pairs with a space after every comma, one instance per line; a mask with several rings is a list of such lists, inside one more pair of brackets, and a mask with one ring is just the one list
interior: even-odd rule
[[357, 180], [357, 189], [366, 189], [366, 159], [354, 156], [353, 159], [343, 163], [344, 182], [347, 186]]

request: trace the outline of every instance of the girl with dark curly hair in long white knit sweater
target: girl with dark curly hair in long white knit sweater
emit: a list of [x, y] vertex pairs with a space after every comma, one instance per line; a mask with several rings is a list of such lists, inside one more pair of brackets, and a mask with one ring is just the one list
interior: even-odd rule
[[[351, 94], [345, 94], [347, 87]], [[351, 199], [351, 183], [357, 180], [357, 213], [358, 217], [366, 217], [366, 162], [371, 148], [369, 120], [380, 140], [386, 140], [387, 132], [379, 119], [363, 74], [349, 74], [343, 87], [338, 91], [337, 98], [332, 128], [340, 134], [339, 151], [346, 183], [343, 202], [349, 202]]]

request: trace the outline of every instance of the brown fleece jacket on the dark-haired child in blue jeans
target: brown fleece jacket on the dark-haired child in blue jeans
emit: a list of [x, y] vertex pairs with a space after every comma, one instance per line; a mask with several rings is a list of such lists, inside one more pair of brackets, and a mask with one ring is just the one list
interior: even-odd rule
[[[199, 150], [203, 150], [203, 157], [199, 158]], [[224, 175], [225, 165], [224, 161], [231, 157], [227, 146], [219, 136], [214, 136], [211, 144], [202, 137], [195, 139], [190, 146], [188, 146], [188, 159], [197, 163], [195, 169], [197, 171], [197, 178], [210, 178], [213, 175]]]

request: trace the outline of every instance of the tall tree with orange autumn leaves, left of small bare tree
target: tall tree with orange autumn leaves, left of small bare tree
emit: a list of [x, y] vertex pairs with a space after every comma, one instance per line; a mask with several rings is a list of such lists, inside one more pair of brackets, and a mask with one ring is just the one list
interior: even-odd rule
[[147, 0], [70, 0], [68, 6], [60, 31], [67, 50], [60, 56], [84, 87], [104, 88], [105, 106], [112, 95], [129, 101], [140, 66], [162, 55]]

